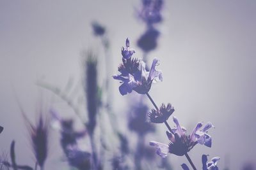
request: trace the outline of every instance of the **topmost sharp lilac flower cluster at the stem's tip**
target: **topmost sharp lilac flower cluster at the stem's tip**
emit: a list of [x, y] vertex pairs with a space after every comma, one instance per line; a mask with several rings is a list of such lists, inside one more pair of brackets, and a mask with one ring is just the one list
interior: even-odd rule
[[120, 94], [129, 94], [132, 90], [139, 94], [146, 94], [152, 82], [163, 81], [162, 72], [156, 69], [159, 60], [154, 59], [150, 71], [146, 70], [146, 64], [141, 59], [131, 58], [135, 51], [129, 47], [129, 39], [126, 39], [126, 48], [122, 48], [122, 61], [118, 67], [121, 74], [113, 76], [120, 80], [122, 85], [119, 87]]

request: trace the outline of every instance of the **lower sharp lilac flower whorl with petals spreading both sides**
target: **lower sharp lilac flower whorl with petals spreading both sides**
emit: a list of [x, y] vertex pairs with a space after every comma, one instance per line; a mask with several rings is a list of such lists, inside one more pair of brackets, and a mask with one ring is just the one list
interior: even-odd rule
[[[185, 153], [188, 153], [197, 143], [211, 147], [211, 145], [209, 145], [211, 136], [209, 136], [206, 132], [207, 129], [212, 127], [211, 123], [206, 124], [205, 127], [200, 130], [203, 124], [202, 122], [199, 122], [196, 124], [196, 127], [191, 135], [188, 135], [186, 134], [186, 129], [180, 126], [176, 117], [173, 117], [173, 122], [176, 124], [176, 127], [172, 129], [172, 132], [166, 132], [168, 138], [170, 139], [169, 145], [156, 141], [150, 141], [150, 146], [157, 148], [157, 154], [159, 156], [166, 157], [168, 152], [182, 156]], [[205, 135], [207, 135], [207, 140], [200, 141], [202, 138], [205, 139]]]

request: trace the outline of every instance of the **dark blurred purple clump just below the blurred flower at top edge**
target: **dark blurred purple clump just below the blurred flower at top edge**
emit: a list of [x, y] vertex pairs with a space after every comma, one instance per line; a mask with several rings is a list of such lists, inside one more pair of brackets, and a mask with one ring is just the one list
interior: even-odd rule
[[144, 51], [150, 52], [157, 47], [157, 38], [159, 37], [160, 32], [150, 27], [147, 31], [141, 35], [137, 41], [137, 45]]

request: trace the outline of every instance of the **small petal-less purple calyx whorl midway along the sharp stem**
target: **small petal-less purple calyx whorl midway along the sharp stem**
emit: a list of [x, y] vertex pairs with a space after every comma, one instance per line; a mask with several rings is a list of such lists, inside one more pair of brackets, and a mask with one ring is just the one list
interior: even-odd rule
[[172, 104], [168, 103], [167, 106], [162, 104], [159, 110], [152, 109], [152, 111], [148, 113], [148, 117], [150, 119], [150, 122], [162, 124], [163, 122], [168, 120], [170, 115], [172, 115], [173, 111], [175, 110], [172, 107]]

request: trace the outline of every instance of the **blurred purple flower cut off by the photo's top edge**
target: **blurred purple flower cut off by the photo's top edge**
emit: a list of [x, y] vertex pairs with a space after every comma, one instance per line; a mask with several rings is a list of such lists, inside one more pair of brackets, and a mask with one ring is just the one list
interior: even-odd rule
[[143, 0], [142, 9], [138, 11], [138, 16], [148, 25], [162, 21], [161, 10], [163, 0]]

